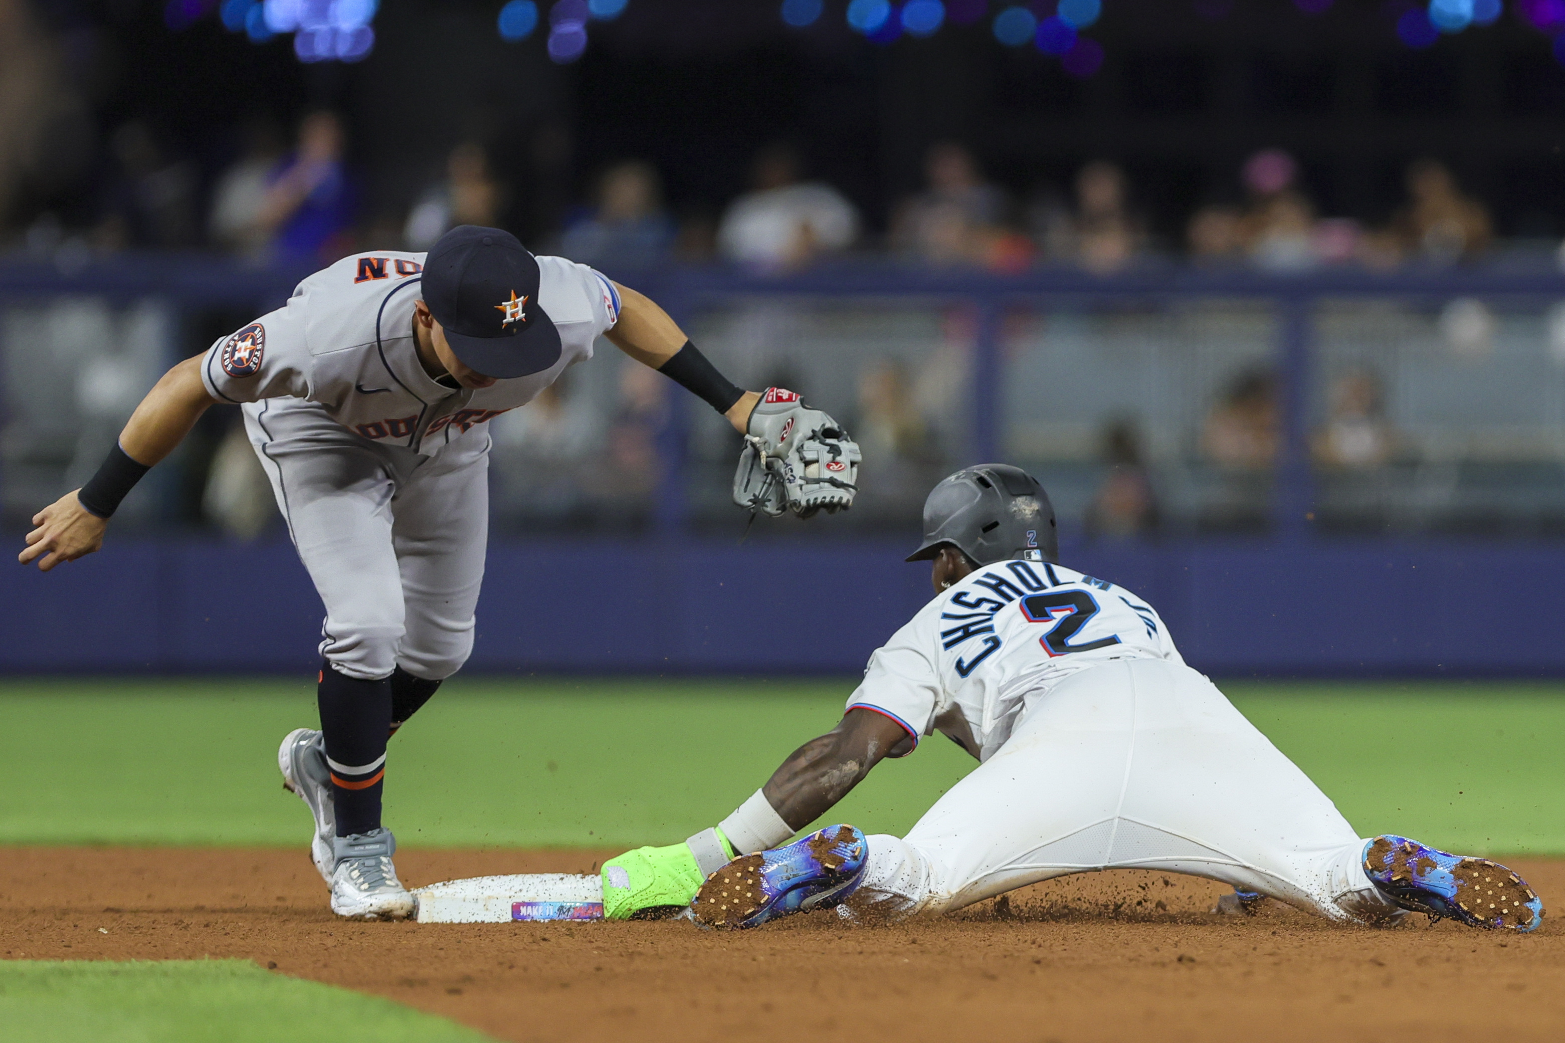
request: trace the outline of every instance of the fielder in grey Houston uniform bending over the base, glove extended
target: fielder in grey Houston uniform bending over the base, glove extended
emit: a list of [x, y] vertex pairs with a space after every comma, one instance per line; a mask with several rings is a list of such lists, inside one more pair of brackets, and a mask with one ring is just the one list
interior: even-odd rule
[[463, 225], [427, 253], [372, 252], [178, 363], [103, 468], [33, 518], [20, 561], [97, 550], [114, 508], [213, 403], [238, 403], [288, 533], [326, 604], [321, 729], [290, 733], [283, 785], [343, 916], [401, 918], [380, 821], [387, 740], [473, 651], [488, 533], [487, 421], [527, 403], [606, 336], [745, 435], [734, 497], [809, 516], [851, 505], [859, 450], [779, 388], [742, 391], [654, 302], [599, 272]]

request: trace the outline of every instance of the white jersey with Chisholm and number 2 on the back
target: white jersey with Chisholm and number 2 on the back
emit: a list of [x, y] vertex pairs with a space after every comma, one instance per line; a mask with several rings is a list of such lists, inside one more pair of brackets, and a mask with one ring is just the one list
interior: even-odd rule
[[1142, 599], [1045, 561], [997, 561], [919, 610], [870, 657], [848, 708], [944, 732], [988, 760], [1017, 716], [1066, 677], [1111, 660], [1183, 665]]

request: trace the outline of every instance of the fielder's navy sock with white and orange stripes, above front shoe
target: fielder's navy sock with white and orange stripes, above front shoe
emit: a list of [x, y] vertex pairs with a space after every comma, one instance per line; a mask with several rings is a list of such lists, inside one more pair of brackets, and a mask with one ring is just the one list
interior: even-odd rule
[[360, 680], [324, 665], [316, 702], [326, 733], [326, 762], [332, 769], [336, 835], [379, 829], [387, 738], [391, 735], [391, 679]]

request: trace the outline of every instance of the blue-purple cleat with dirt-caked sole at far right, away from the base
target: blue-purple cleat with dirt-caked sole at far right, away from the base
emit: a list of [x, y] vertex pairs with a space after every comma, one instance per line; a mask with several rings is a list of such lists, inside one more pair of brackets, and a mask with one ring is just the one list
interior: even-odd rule
[[1407, 837], [1376, 837], [1365, 848], [1365, 873], [1393, 902], [1435, 919], [1471, 927], [1537, 930], [1543, 899], [1520, 876], [1488, 858], [1426, 848]]

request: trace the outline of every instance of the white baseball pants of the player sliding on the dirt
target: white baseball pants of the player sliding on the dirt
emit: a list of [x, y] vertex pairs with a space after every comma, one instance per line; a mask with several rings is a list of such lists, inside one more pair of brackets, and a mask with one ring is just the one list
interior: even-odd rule
[[1393, 912], [1365, 843], [1203, 676], [1117, 660], [1041, 694], [906, 838], [870, 837], [848, 907], [944, 913], [1070, 873], [1161, 869], [1358, 921]]

